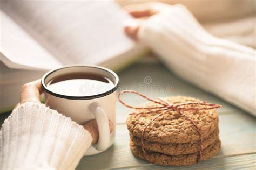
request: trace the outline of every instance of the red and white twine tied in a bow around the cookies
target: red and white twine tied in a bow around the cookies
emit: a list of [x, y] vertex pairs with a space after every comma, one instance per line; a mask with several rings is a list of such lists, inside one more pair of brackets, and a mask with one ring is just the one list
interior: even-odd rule
[[[120, 95], [123, 94], [123, 93], [137, 94], [137, 95], [145, 98], [148, 101], [159, 104], [160, 106], [157, 106], [157, 107], [133, 107], [132, 105], [126, 104], [125, 102], [123, 102], [121, 100]], [[200, 132], [200, 129], [199, 129], [198, 125], [193, 121], [193, 119], [191, 119], [191, 117], [184, 114], [183, 111], [210, 110], [210, 109], [217, 109], [217, 108], [221, 107], [221, 105], [210, 104], [210, 103], [206, 103], [206, 102], [189, 102], [189, 103], [182, 103], [182, 104], [173, 105], [173, 104], [169, 103], [168, 101], [164, 100], [163, 98], [158, 98], [159, 101], [156, 101], [156, 100], [153, 100], [153, 99], [151, 99], [151, 98], [149, 98], [149, 97], [147, 97], [143, 94], [140, 94], [138, 91], [133, 91], [133, 90], [123, 90], [123, 91], [121, 91], [118, 94], [118, 100], [119, 100], [120, 103], [125, 105], [127, 108], [138, 109], [138, 110], [146, 110], [146, 111], [142, 111], [142, 112], [139, 112], [139, 113], [132, 112], [129, 115], [135, 115], [135, 114], [136, 115], [142, 115], [142, 114], [150, 114], [150, 113], [153, 113], [153, 112], [156, 112], [156, 113], [161, 112], [156, 117], [151, 119], [151, 121], [147, 122], [146, 126], [142, 130], [142, 138], [140, 138], [140, 144], [141, 144], [141, 147], [142, 147], [143, 155], [146, 158], [146, 160], [149, 161], [149, 162], [151, 162], [151, 161], [150, 161], [149, 157], [146, 154], [145, 145], [144, 145], [145, 130], [158, 117], [160, 117], [161, 115], [170, 113], [171, 111], [178, 111], [180, 115], [184, 116], [196, 128], [196, 130], [198, 132], [198, 135], [199, 135], [199, 140], [200, 140], [200, 152], [199, 152], [198, 157], [197, 157], [197, 162], [199, 162], [201, 160], [202, 153], [203, 153], [203, 138], [201, 136], [201, 132]], [[191, 105], [196, 105], [196, 106], [191, 106]], [[188, 107], [185, 108], [185, 106], [188, 106]], [[191, 107], [189, 107], [189, 106], [191, 106]]]

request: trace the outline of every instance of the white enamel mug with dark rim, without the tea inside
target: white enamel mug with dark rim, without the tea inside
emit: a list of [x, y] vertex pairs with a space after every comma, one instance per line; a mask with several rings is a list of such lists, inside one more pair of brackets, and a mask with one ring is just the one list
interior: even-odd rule
[[[103, 93], [90, 96], [66, 96], [51, 91], [47, 84], [58, 76], [71, 73], [96, 74], [107, 77], [114, 84], [113, 88]], [[42, 86], [45, 90], [45, 104], [51, 109], [70, 117], [80, 125], [96, 119], [99, 140], [91, 145], [85, 155], [103, 152], [109, 148], [116, 134], [116, 90], [119, 78], [112, 70], [92, 65], [69, 65], [50, 70], [42, 77]], [[67, 89], [68, 90], [68, 89]], [[113, 123], [113, 131], [109, 133], [109, 120]]]

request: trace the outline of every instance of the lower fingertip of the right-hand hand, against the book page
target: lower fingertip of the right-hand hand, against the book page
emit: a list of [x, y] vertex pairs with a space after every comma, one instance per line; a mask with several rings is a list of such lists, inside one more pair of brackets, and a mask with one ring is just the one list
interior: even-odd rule
[[139, 26], [142, 21], [139, 19], [133, 19], [125, 22], [124, 31], [127, 36], [134, 40], [138, 40]]

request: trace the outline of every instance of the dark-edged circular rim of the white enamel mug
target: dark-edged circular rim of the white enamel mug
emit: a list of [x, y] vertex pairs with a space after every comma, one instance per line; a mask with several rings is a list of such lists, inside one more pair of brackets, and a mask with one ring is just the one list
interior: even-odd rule
[[[46, 84], [44, 83], [45, 79], [52, 73], [57, 72], [60, 69], [65, 69], [65, 68], [69, 68], [69, 67], [91, 67], [91, 68], [97, 68], [97, 69], [101, 69], [104, 70], [105, 72], [112, 74], [114, 76], [114, 79], [116, 79], [116, 82], [114, 83], [114, 87], [108, 91], [105, 91], [104, 93], [100, 93], [97, 95], [91, 95], [91, 96], [68, 96], [68, 95], [62, 95], [62, 94], [58, 94], [58, 93], [54, 93], [53, 91], [49, 90], [46, 86]], [[48, 72], [46, 72], [41, 80], [41, 85], [43, 87], [43, 89], [46, 91], [46, 93], [56, 96], [56, 97], [60, 97], [60, 98], [65, 98], [65, 99], [70, 99], [70, 100], [90, 100], [93, 98], [99, 98], [99, 97], [103, 97], [106, 95], [110, 95], [112, 93], [114, 93], [114, 91], [117, 90], [118, 85], [119, 85], [119, 77], [116, 73], [114, 73], [112, 70], [102, 67], [102, 66], [96, 66], [96, 65], [66, 65], [57, 69], [52, 69]]]

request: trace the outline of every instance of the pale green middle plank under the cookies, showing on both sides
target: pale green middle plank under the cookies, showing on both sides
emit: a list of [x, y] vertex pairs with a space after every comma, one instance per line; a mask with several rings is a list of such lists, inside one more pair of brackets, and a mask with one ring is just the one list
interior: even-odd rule
[[[254, 117], [244, 112], [220, 115], [221, 151], [217, 157], [224, 158], [237, 154], [250, 154], [255, 149]], [[133, 157], [129, 148], [129, 133], [125, 124], [117, 125], [117, 135], [114, 146], [104, 153], [83, 157], [78, 169], [102, 169], [127, 166], [140, 166], [146, 161]], [[206, 163], [205, 163], [206, 164]]]

